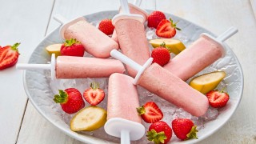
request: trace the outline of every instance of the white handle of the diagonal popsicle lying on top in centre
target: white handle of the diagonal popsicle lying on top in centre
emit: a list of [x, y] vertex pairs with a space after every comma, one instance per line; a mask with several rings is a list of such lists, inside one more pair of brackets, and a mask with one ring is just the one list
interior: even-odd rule
[[149, 58], [143, 66], [139, 65], [137, 62], [134, 62], [132, 59], [126, 57], [126, 55], [120, 53], [118, 50], [111, 50], [110, 52], [111, 57], [118, 59], [119, 61], [125, 63], [126, 65], [130, 66], [134, 70], [137, 70], [138, 73], [134, 78], [134, 85], [138, 84], [138, 79], [141, 78], [143, 72], [146, 70], [147, 67], [151, 65], [153, 62], [153, 58]]

